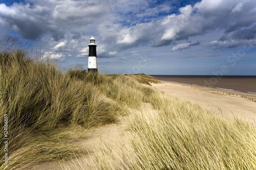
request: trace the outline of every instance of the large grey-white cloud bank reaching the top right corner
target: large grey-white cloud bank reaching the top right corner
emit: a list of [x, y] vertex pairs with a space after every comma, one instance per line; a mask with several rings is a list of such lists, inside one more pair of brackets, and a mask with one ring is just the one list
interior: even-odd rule
[[[245, 3], [247, 3], [245, 5]], [[161, 20], [161, 25], [164, 28], [160, 42], [156, 46], [168, 45], [174, 41], [188, 39], [195, 35], [203, 35], [207, 32], [215, 31], [216, 29], [226, 30], [224, 35], [230, 34], [236, 37], [233, 39], [248, 39], [254, 38], [252, 33], [254, 29], [250, 26], [256, 24], [256, 11], [252, 8], [256, 5], [253, 1], [211, 1], [203, 0], [194, 6], [187, 5], [180, 8], [180, 14], [172, 14], [164, 17]], [[244, 8], [247, 10], [244, 10]], [[239, 15], [230, 15], [230, 13], [238, 13]], [[247, 19], [245, 19], [247, 16]], [[246, 28], [246, 29], [245, 29]], [[238, 30], [247, 31], [246, 37], [239, 36]], [[249, 33], [248, 33], [249, 32]], [[247, 36], [248, 35], [248, 36]], [[250, 36], [249, 36], [250, 35]]]

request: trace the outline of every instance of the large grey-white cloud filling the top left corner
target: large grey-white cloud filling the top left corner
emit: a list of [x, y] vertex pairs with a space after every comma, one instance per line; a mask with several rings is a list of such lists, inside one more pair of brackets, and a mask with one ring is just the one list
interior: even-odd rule
[[[92, 23], [100, 17], [104, 20], [108, 8], [99, 1], [33, 1], [27, 0], [26, 5], [14, 3], [7, 7], [1, 4], [0, 17], [6, 22], [6, 27], [15, 29], [26, 39], [35, 40], [40, 36], [51, 34], [55, 41], [65, 38], [70, 31], [84, 30], [92, 27]], [[31, 3], [31, 4], [29, 4]], [[82, 28], [82, 29], [81, 29]]]

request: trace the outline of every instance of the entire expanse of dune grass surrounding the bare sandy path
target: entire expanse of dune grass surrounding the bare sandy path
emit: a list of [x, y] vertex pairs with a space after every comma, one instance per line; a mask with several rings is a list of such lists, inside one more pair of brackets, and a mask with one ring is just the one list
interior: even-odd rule
[[159, 92], [145, 85], [154, 81], [147, 75], [61, 72], [53, 61], [28, 56], [0, 53], [0, 130], [8, 115], [9, 138], [8, 167], [0, 143], [1, 169], [72, 158], [82, 167], [87, 153], [74, 134], [86, 136], [120, 116], [130, 117], [130, 144], [120, 155], [102, 144], [97, 169], [256, 169], [256, 130], [239, 118], [227, 122]]

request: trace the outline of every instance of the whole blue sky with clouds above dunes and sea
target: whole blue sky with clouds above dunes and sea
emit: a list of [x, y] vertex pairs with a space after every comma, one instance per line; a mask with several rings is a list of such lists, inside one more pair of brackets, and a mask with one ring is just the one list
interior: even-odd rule
[[255, 0], [0, 0], [0, 30], [62, 70], [94, 36], [103, 74], [256, 75]]

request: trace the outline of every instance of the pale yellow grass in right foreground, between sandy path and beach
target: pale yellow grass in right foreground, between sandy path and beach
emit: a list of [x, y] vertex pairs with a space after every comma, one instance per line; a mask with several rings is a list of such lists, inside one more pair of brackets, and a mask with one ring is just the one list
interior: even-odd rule
[[[152, 107], [127, 109], [132, 147], [100, 169], [255, 169], [256, 129], [155, 91]], [[107, 159], [107, 157], [109, 159]], [[121, 167], [115, 162], [125, 162]], [[128, 166], [128, 167], [127, 167]], [[109, 168], [111, 167], [111, 168]]]

